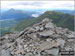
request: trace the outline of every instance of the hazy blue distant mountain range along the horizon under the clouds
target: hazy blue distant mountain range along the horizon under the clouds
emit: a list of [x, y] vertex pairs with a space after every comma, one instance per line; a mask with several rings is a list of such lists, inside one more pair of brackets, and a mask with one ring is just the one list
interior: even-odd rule
[[[46, 10], [45, 10], [46, 11]], [[49, 10], [50, 11], [50, 10]], [[74, 10], [52, 10], [52, 11], [56, 11], [56, 12], [63, 12], [63, 13], [68, 13], [68, 14], [72, 14], [74, 15]], [[44, 10], [40, 10], [40, 11], [24, 11], [24, 10], [15, 10], [15, 9], [10, 9], [6, 12], [1, 13], [1, 19], [5, 20], [5, 19], [18, 19], [18, 18], [30, 18], [32, 17], [32, 14], [42, 14], [42, 12], [44, 12]]]

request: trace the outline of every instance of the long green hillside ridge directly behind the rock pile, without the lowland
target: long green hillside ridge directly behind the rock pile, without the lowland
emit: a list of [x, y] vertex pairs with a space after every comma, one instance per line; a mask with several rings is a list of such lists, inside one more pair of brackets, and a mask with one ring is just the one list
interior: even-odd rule
[[46, 11], [44, 14], [37, 18], [25, 19], [15, 26], [15, 30], [20, 31], [26, 28], [27, 26], [31, 26], [35, 23], [40, 22], [43, 18], [50, 18], [53, 20], [57, 26], [68, 28], [69, 30], [74, 30], [74, 16], [65, 13], [59, 13], [55, 11]]

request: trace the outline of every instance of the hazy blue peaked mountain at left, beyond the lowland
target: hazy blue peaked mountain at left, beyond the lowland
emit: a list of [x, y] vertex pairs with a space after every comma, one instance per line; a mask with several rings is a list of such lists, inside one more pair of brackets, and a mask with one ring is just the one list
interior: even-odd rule
[[31, 14], [21, 10], [10, 9], [1, 14], [1, 19], [18, 19], [18, 18], [28, 18]]

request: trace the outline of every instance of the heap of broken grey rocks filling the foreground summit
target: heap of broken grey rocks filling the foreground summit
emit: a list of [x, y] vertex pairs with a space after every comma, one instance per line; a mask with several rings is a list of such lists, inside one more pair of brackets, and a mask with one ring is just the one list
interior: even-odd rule
[[60, 56], [60, 50], [75, 51], [75, 32], [56, 27], [48, 18], [0, 37], [0, 56]]

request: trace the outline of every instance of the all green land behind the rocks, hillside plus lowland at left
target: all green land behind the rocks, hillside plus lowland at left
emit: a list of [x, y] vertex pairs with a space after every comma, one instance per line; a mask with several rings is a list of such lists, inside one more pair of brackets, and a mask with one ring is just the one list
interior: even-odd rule
[[30, 27], [33, 24], [40, 22], [44, 18], [50, 18], [53, 20], [53, 23], [55, 23], [57, 26], [68, 28], [69, 30], [74, 31], [74, 15], [55, 11], [46, 11], [44, 14], [40, 15], [37, 18], [25, 18], [23, 20], [20, 20], [19, 23], [17, 22], [18, 20], [9, 20], [1, 22], [1, 35], [11, 33], [14, 31], [20, 32], [26, 27]]

